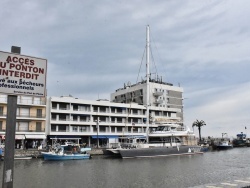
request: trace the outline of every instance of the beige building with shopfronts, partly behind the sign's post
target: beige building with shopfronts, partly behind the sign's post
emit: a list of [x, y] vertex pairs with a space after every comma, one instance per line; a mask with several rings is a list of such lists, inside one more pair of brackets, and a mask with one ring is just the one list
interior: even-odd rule
[[[8, 96], [0, 95], [0, 142], [5, 141]], [[16, 148], [37, 148], [46, 139], [46, 98], [17, 98]]]

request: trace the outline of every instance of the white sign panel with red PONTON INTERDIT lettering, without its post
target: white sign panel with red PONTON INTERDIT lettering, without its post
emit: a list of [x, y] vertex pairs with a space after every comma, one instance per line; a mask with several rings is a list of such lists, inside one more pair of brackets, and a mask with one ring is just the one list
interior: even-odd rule
[[0, 51], [0, 93], [44, 97], [47, 60]]

